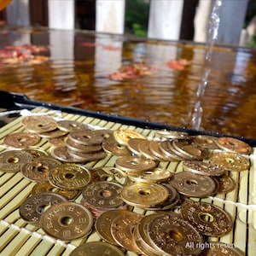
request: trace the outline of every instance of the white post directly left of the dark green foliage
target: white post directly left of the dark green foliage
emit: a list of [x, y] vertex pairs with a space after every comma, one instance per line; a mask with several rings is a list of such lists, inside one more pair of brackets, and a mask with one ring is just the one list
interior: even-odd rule
[[123, 34], [125, 0], [96, 0], [96, 32]]

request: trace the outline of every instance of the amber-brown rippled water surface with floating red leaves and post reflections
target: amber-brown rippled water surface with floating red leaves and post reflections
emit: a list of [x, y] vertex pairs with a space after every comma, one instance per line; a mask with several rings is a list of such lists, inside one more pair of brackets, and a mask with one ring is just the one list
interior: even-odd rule
[[[44, 46], [38, 59], [24, 45]], [[7, 48], [8, 49], [8, 48]], [[0, 90], [102, 113], [195, 128], [193, 110], [207, 47], [81, 31], [0, 33]], [[40, 56], [45, 56], [43, 58]], [[20, 61], [21, 60], [21, 61]], [[213, 47], [199, 130], [256, 138], [256, 52]]]

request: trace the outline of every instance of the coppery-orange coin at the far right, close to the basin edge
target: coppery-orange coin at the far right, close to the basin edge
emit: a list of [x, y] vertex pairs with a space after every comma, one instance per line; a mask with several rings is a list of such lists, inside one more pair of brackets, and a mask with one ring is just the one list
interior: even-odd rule
[[216, 143], [219, 148], [231, 153], [251, 154], [253, 151], [249, 144], [234, 137], [219, 137]]

